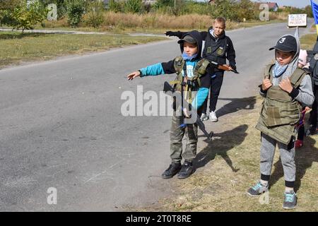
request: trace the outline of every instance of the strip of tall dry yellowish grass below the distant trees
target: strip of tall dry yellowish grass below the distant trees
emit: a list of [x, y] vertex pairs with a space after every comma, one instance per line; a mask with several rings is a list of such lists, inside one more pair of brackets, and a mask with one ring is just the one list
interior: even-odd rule
[[[268, 25], [271, 23], [285, 23], [287, 20], [253, 20], [245, 23], [227, 21], [226, 30], [237, 28], [251, 28], [257, 25]], [[161, 14], [136, 15], [131, 13], [105, 13], [105, 23], [100, 28], [93, 28], [85, 23], [80, 23], [78, 28], [70, 28], [66, 18], [58, 21], [45, 21], [45, 28], [37, 25], [35, 29], [47, 30], [77, 30], [84, 32], [143, 32], [163, 34], [166, 30], [207, 30], [213, 24], [210, 16], [189, 14], [184, 16], [168, 16]], [[4, 27], [5, 28], [5, 27]], [[8, 27], [6, 27], [8, 28]]]

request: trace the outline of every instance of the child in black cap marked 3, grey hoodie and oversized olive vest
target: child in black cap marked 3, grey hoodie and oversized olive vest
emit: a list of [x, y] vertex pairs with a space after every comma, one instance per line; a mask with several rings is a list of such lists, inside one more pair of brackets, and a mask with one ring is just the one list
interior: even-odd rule
[[297, 205], [294, 191], [295, 126], [300, 120], [302, 107], [312, 105], [314, 95], [310, 74], [298, 69], [298, 40], [293, 35], [284, 35], [271, 49], [275, 49], [276, 62], [266, 69], [260, 85], [260, 93], [265, 99], [256, 126], [261, 131], [261, 178], [248, 189], [247, 194], [258, 196], [269, 190], [273, 157], [278, 145], [285, 177], [283, 208], [291, 209]]

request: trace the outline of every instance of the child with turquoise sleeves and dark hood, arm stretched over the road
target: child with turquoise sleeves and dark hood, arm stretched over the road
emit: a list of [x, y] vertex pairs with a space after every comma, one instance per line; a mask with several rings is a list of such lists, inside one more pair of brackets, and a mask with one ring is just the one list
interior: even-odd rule
[[[127, 78], [132, 80], [138, 77], [146, 77], [146, 76], [158, 76], [163, 74], [177, 73], [178, 76], [177, 82], [179, 85], [176, 88], [181, 88], [184, 91], [189, 88], [189, 82], [191, 82], [195, 87], [193, 90], [196, 90], [196, 96], [192, 101], [192, 111], [194, 109], [201, 112], [201, 106], [206, 100], [208, 96], [208, 88], [210, 87], [210, 76], [206, 74], [206, 69], [208, 69], [211, 64], [206, 64], [206, 68], [197, 69], [198, 65], [204, 59], [201, 59], [201, 47], [202, 47], [202, 39], [201, 34], [194, 30], [192, 32], [186, 33], [182, 39], [178, 41], [180, 44], [180, 49], [182, 52], [182, 57], [177, 57], [171, 61], [153, 64], [151, 66], [146, 66], [143, 69], [139, 69], [139, 71], [134, 71], [129, 73]], [[181, 61], [180, 61], [181, 59]], [[182, 61], [184, 61], [183, 66]], [[179, 65], [179, 66], [178, 66]], [[202, 66], [205, 64], [202, 64]], [[181, 68], [182, 67], [182, 68]], [[192, 80], [195, 78], [194, 76], [200, 73], [199, 78]], [[199, 80], [199, 82], [197, 81]], [[199, 85], [200, 84], [200, 85]], [[170, 129], [170, 158], [171, 164], [170, 166], [163, 172], [161, 177], [163, 179], [168, 179], [173, 177], [178, 173], [178, 179], [185, 179], [189, 177], [194, 172], [194, 167], [192, 165], [192, 160], [196, 157], [196, 144], [198, 143], [198, 126], [197, 124], [184, 124], [184, 117], [189, 117], [189, 112], [187, 108], [183, 109], [175, 109], [174, 115], [172, 116], [172, 125]], [[176, 112], [182, 112], [183, 116], [180, 114], [176, 114]], [[187, 145], [185, 150], [182, 150], [182, 138], [186, 136]], [[184, 159], [183, 165], [181, 164], [182, 158]]]

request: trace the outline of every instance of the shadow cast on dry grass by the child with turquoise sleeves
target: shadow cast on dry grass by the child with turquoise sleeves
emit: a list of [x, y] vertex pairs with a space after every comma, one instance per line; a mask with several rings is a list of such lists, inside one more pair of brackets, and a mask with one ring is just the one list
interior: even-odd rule
[[235, 129], [230, 131], [225, 131], [223, 133], [214, 133], [214, 140], [208, 143], [208, 146], [201, 150], [196, 155], [194, 159], [194, 167], [199, 169], [200, 167], [204, 167], [208, 162], [213, 160], [216, 155], [220, 155], [223, 157], [228, 166], [232, 169], [233, 172], [237, 172], [240, 169], [235, 169], [233, 167], [232, 160], [228, 156], [228, 150], [231, 150], [237, 145], [240, 145], [247, 136], [247, 128], [246, 124], [237, 126]]

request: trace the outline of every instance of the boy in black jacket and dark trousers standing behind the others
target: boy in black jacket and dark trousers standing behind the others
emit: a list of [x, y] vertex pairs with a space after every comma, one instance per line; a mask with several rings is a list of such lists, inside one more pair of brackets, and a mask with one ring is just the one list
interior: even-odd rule
[[[165, 32], [169, 36], [177, 36], [181, 38], [187, 32]], [[204, 51], [202, 57], [208, 61], [214, 61], [220, 65], [226, 64], [226, 59], [229, 61], [230, 70], [236, 70], [235, 49], [230, 37], [225, 35], [225, 18], [218, 17], [213, 22], [213, 27], [208, 28], [207, 32], [201, 32], [202, 40], [205, 40]], [[201, 114], [201, 120], [218, 121], [216, 117], [216, 103], [218, 102], [218, 95], [223, 83], [224, 71], [222, 69], [213, 69], [208, 71], [211, 76], [211, 92], [210, 92], [210, 113], [206, 114], [208, 105], [208, 98], [204, 102], [204, 109]]]

